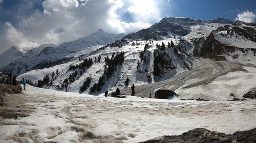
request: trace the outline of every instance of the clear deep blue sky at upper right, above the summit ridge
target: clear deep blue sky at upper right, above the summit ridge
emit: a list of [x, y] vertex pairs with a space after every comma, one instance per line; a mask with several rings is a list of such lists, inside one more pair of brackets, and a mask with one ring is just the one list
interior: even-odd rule
[[172, 2], [171, 8], [174, 10], [170, 15], [180, 15], [196, 19], [214, 19], [217, 17], [223, 17], [235, 20], [238, 13], [242, 13], [246, 10], [253, 13], [256, 12], [256, 1], [254, 0], [173, 0]]

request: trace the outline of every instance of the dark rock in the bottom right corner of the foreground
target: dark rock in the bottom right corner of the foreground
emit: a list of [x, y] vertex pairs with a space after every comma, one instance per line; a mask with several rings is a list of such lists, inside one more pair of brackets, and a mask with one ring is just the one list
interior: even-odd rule
[[182, 135], [172, 135], [172, 136], [161, 136], [155, 139], [143, 141], [141, 143], [252, 143], [256, 142], [256, 128], [248, 131], [239, 131], [236, 133], [225, 134], [215, 131], [209, 131], [204, 128], [196, 128], [188, 132], [184, 132]]

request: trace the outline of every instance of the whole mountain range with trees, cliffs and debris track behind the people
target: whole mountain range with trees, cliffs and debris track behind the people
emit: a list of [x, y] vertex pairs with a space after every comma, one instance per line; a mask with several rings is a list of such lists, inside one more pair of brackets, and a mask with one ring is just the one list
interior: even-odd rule
[[[8, 67], [23, 73], [18, 79], [25, 77], [38, 87], [65, 90], [68, 81], [69, 91], [91, 95], [116, 88], [130, 94], [127, 87], [134, 83], [138, 96], [168, 89], [185, 99], [231, 100], [231, 93], [242, 97], [256, 88], [254, 23], [171, 17], [123, 36], [99, 30], [76, 41], [32, 49]], [[238, 81], [246, 87], [237, 88], [233, 82]], [[223, 84], [229, 88], [216, 92], [214, 87]]]

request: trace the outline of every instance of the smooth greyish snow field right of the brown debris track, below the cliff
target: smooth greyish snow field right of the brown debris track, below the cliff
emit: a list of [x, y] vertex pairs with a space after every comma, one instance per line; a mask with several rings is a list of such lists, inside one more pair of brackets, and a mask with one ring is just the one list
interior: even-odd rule
[[183, 89], [185, 85], [195, 83], [201, 79], [188, 80], [175, 92], [181, 95], [180, 98], [185, 97], [186, 99], [203, 98], [207, 100], [232, 100], [233, 97], [229, 96], [231, 93], [233, 93], [237, 98], [241, 99], [245, 93], [251, 89], [256, 88], [256, 68], [243, 68], [248, 72], [230, 72], [226, 75], [216, 78], [214, 81], [206, 85]]

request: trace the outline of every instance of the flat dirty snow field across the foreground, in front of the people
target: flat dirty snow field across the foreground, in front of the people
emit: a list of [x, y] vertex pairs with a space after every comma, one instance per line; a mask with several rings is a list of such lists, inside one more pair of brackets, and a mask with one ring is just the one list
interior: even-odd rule
[[[3, 120], [0, 142], [138, 142], [194, 128], [232, 134], [256, 127], [254, 100], [120, 99], [30, 85], [24, 93], [9, 96], [22, 96], [26, 99], [24, 106], [34, 112], [28, 117]], [[86, 137], [88, 132], [94, 137]]]

